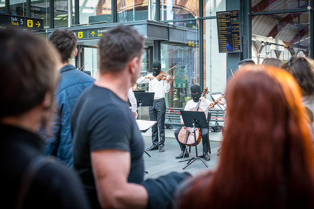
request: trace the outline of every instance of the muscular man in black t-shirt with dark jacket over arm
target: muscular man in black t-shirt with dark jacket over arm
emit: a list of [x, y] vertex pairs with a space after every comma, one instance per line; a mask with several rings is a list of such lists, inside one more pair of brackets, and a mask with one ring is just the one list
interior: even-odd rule
[[143, 182], [143, 139], [125, 102], [143, 63], [143, 37], [118, 26], [100, 39], [100, 77], [71, 115], [73, 162], [93, 208], [171, 208], [187, 174]]

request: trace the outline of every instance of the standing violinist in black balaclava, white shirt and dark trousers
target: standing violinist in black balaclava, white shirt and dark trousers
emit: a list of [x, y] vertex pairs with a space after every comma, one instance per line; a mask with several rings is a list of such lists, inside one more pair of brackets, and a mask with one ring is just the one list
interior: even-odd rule
[[[151, 121], [157, 121], [157, 124], [152, 126], [152, 143], [150, 148], [146, 151], [159, 149], [160, 152], [164, 152], [165, 146], [165, 114], [166, 114], [166, 102], [165, 94], [170, 90], [170, 76], [168, 75], [165, 80], [155, 78], [161, 71], [161, 63], [154, 61], [152, 63], [152, 73], [146, 76], [140, 77], [136, 83], [143, 84], [149, 83], [148, 92], [155, 92], [153, 106], [149, 107], [149, 118]], [[159, 138], [158, 138], [159, 129]], [[160, 139], [160, 140], [159, 140]]]

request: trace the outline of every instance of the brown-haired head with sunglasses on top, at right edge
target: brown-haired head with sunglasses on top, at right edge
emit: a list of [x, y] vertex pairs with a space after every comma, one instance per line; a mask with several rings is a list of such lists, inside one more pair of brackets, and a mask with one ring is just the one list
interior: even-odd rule
[[303, 95], [314, 94], [314, 60], [306, 57], [291, 57], [282, 68], [295, 77]]

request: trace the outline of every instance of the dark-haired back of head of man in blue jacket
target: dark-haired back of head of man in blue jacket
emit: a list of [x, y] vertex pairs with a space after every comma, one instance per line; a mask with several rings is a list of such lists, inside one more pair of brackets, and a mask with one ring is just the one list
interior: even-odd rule
[[75, 34], [68, 30], [54, 30], [49, 37], [49, 41], [57, 48], [61, 55], [62, 63], [68, 63], [75, 54], [77, 38]]

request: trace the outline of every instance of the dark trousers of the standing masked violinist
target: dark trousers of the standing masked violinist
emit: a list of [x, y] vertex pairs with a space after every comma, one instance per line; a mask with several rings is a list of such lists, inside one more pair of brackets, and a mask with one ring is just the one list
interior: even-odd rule
[[157, 121], [160, 137], [159, 140], [158, 128], [157, 124], [155, 124], [152, 126], [152, 142], [154, 147], [165, 146], [165, 115], [166, 115], [165, 98], [154, 99], [153, 106], [149, 107], [149, 119], [151, 121]]

